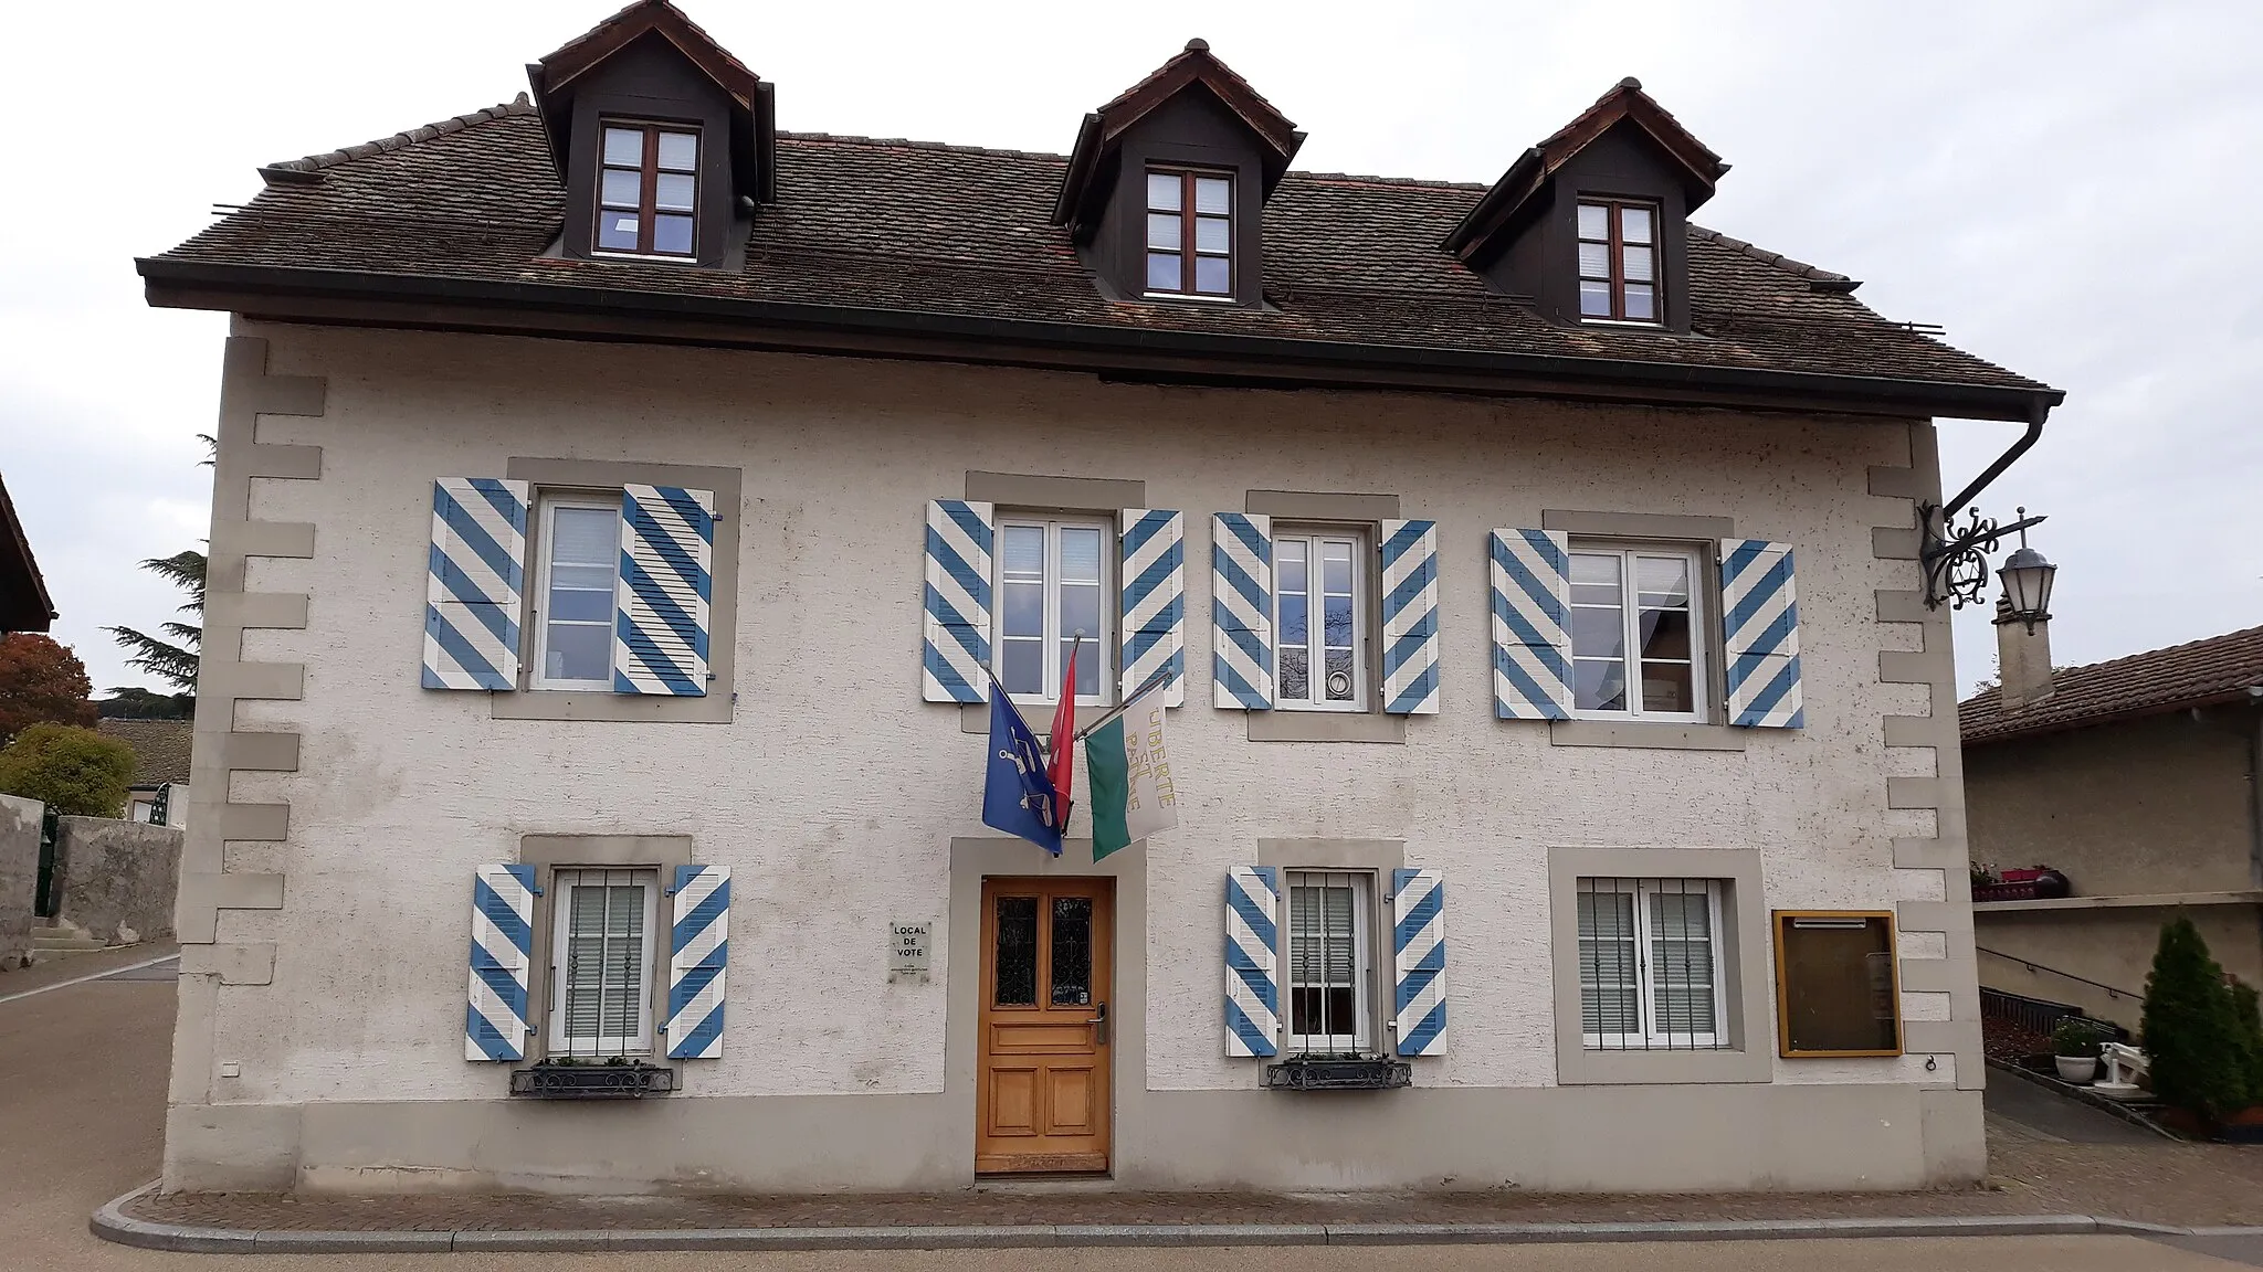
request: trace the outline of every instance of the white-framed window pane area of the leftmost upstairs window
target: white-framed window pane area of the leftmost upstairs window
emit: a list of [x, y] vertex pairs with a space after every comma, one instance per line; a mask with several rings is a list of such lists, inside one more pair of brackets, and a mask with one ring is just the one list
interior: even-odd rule
[[545, 498], [541, 509], [532, 684], [611, 690], [620, 498]]

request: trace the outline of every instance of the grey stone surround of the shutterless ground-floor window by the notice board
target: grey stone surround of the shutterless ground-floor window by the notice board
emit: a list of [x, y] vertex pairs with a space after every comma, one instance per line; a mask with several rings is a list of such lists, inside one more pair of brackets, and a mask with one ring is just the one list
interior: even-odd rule
[[[1727, 1050], [1589, 1050], [1580, 1023], [1580, 880], [1711, 878], [1722, 883]], [[1758, 849], [1548, 849], [1548, 951], [1555, 966], [1557, 1086], [1772, 1082], [1767, 903]]]

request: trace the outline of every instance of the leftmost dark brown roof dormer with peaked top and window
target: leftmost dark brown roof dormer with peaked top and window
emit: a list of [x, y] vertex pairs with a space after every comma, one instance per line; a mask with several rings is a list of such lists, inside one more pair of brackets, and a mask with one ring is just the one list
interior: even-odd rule
[[636, 0], [527, 81], [566, 186], [566, 256], [722, 265], [776, 199], [769, 84], [668, 0]]

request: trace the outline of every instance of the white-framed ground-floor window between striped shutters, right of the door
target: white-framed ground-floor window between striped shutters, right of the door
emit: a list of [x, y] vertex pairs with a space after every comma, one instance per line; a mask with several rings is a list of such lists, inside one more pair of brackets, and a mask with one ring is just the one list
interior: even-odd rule
[[1371, 910], [1365, 871], [1288, 871], [1288, 1052], [1374, 1048]]

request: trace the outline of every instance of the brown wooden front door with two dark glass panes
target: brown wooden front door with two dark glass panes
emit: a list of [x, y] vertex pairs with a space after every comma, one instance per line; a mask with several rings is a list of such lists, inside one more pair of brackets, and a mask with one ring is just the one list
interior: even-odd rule
[[1109, 1168], [1113, 878], [982, 880], [975, 1172]]

